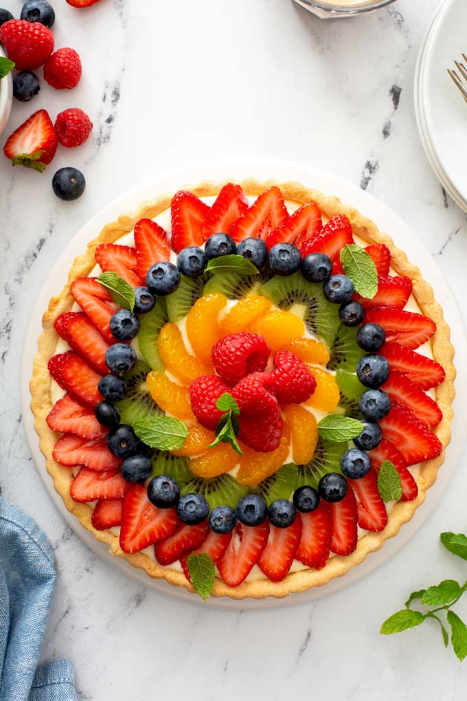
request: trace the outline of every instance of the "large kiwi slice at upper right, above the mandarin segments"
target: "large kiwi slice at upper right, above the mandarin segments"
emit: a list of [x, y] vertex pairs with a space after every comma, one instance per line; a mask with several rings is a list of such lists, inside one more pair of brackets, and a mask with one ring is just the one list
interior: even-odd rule
[[274, 275], [258, 292], [279, 309], [293, 306], [293, 313], [302, 317], [307, 331], [322, 339], [326, 346], [333, 342], [340, 323], [339, 310], [324, 297], [323, 285], [309, 283], [298, 271], [284, 278]]

